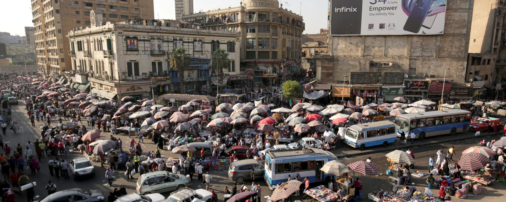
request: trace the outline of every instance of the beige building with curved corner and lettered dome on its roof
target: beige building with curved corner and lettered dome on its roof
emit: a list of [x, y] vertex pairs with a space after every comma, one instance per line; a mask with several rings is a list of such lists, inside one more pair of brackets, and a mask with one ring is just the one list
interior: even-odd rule
[[242, 48], [237, 51], [241, 71], [252, 69], [261, 71], [261, 77], [290, 78], [301, 69], [305, 23], [302, 16], [286, 10], [277, 0], [243, 0], [238, 7], [185, 15], [183, 21], [199, 23], [202, 29], [240, 33]]

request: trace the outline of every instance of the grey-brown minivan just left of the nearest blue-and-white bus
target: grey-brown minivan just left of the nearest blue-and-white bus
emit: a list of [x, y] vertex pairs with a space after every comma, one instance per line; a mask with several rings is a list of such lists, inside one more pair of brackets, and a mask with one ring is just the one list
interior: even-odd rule
[[264, 165], [262, 161], [255, 159], [234, 161], [228, 169], [228, 177], [230, 180], [242, 184], [245, 180], [251, 180], [251, 170], [255, 169], [255, 179], [263, 179]]

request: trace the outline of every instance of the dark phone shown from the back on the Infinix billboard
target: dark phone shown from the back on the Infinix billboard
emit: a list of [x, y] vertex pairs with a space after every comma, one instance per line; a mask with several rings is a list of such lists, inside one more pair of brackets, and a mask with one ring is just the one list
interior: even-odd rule
[[434, 0], [415, 0], [416, 3], [404, 24], [404, 30], [418, 33]]

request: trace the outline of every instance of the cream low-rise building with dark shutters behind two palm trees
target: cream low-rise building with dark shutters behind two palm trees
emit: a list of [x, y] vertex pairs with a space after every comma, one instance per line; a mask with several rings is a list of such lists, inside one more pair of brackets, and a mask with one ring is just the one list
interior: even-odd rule
[[[174, 20], [135, 19], [112, 24], [101, 20], [98, 16], [91, 27], [70, 30], [67, 35], [72, 52], [72, 67], [66, 74], [69, 88], [90, 87], [105, 99], [180, 93], [180, 82], [184, 82], [187, 94], [208, 92], [213, 83], [218, 83], [210, 63], [211, 54], [218, 48], [227, 50], [231, 60], [230, 67], [223, 69], [224, 79], [240, 72], [238, 33], [179, 28], [191, 24], [176, 25]], [[191, 55], [191, 65], [183, 72], [170, 68], [168, 62], [169, 53], [179, 47]], [[180, 73], [184, 74], [182, 81]]]

